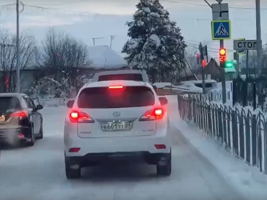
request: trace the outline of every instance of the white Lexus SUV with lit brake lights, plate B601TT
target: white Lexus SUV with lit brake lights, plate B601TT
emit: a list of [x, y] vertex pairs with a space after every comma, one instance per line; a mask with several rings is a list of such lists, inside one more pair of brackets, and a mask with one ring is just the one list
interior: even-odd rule
[[165, 97], [136, 81], [102, 81], [84, 85], [71, 108], [64, 130], [67, 179], [81, 168], [109, 159], [140, 158], [171, 174], [169, 119]]

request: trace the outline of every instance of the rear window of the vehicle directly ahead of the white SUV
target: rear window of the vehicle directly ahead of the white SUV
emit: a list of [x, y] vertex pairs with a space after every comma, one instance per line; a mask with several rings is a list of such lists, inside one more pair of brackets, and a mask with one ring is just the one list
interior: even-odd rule
[[143, 81], [142, 74], [107, 74], [101, 75], [98, 81], [115, 81], [115, 80], [127, 80], [127, 81]]

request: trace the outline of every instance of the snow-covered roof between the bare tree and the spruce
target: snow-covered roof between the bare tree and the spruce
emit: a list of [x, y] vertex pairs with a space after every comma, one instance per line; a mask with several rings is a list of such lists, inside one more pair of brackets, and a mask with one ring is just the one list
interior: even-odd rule
[[90, 68], [120, 68], [127, 66], [123, 57], [109, 46], [89, 47]]

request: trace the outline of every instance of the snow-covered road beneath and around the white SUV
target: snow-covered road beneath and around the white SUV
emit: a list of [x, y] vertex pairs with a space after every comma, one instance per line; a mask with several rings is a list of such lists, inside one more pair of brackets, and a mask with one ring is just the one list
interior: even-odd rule
[[236, 200], [241, 199], [216, 170], [172, 130], [170, 177], [154, 166], [101, 166], [67, 181], [63, 125], [66, 108], [45, 108], [44, 139], [32, 148], [4, 150], [0, 160], [0, 200]]

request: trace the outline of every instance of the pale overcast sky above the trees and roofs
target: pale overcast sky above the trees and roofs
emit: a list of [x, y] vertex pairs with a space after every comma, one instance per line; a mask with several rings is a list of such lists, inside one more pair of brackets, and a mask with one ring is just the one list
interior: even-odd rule
[[[16, 0], [0, 0], [0, 6], [15, 3]], [[216, 3], [215, 0], [208, 0]], [[45, 37], [49, 27], [66, 31], [88, 45], [93, 45], [92, 37], [99, 39], [97, 45], [110, 45], [110, 35], [115, 35], [112, 48], [120, 51], [127, 40], [125, 22], [132, 19], [138, 0], [22, 0], [25, 4], [20, 15], [21, 32], [33, 34], [37, 40]], [[223, 0], [230, 6], [232, 38], [254, 39], [255, 0]], [[218, 43], [211, 40], [211, 9], [204, 0], [161, 0], [177, 22], [191, 46], [200, 41], [217, 52]], [[267, 18], [267, 0], [261, 0], [262, 22]], [[16, 31], [15, 6], [0, 7], [0, 27]], [[108, 16], [109, 15], [109, 16]], [[112, 16], [111, 16], [112, 15]], [[267, 42], [267, 25], [262, 23], [263, 42]], [[225, 42], [229, 50], [233, 41]], [[212, 56], [216, 56], [213, 53]]]

